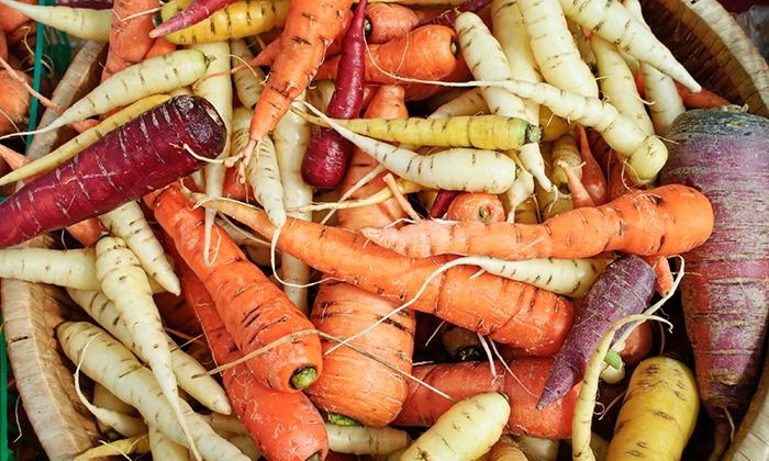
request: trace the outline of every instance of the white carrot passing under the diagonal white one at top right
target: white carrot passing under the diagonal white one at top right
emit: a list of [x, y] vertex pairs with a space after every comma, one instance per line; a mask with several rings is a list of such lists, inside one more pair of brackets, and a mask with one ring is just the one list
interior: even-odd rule
[[[640, 12], [640, 3], [637, 0], [625, 0], [625, 8], [647, 30]], [[649, 102], [649, 112], [654, 130], [659, 135], [665, 135], [677, 116], [684, 113], [681, 95], [678, 93], [676, 82], [667, 75], [660, 72], [648, 63], [640, 63], [640, 75], [644, 78], [644, 99]]]

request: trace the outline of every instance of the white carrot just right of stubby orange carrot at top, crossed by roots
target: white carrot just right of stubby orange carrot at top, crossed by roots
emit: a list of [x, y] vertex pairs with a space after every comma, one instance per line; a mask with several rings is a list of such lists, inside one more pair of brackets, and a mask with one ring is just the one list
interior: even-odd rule
[[[456, 19], [455, 27], [462, 57], [477, 80], [512, 80], [513, 74], [508, 57], [502, 52], [500, 43], [491, 35], [483, 21], [475, 13], [461, 13]], [[516, 94], [500, 87], [483, 87], [481, 89], [483, 100], [494, 115], [519, 117], [532, 124], [538, 123], [539, 116], [536, 108], [526, 108], [524, 101]], [[545, 175], [539, 145], [536, 139], [526, 139], [526, 144], [517, 153], [523, 167], [536, 178], [544, 189], [550, 189], [553, 184]], [[517, 146], [506, 147], [508, 149]], [[505, 148], [497, 146], [494, 148]]]

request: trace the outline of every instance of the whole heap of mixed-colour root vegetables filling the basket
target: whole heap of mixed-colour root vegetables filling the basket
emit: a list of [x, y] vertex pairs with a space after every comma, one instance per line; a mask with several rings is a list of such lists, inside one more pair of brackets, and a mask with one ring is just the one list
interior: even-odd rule
[[637, 0], [10, 12], [109, 46], [37, 131], [76, 137], [0, 145], [0, 277], [91, 318], [55, 331], [101, 430], [77, 459], [727, 449], [765, 349], [769, 121]]

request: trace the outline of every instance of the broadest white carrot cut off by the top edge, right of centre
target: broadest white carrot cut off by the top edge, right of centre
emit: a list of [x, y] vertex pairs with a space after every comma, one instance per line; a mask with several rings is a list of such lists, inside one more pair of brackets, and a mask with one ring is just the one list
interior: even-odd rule
[[595, 79], [577, 49], [558, 0], [520, 0], [517, 4], [545, 81], [571, 93], [598, 98]]

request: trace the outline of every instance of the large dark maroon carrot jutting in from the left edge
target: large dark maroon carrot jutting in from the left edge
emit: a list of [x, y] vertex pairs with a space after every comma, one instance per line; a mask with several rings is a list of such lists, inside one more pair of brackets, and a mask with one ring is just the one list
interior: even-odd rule
[[226, 128], [202, 98], [151, 109], [0, 203], [0, 248], [98, 216], [200, 169]]

